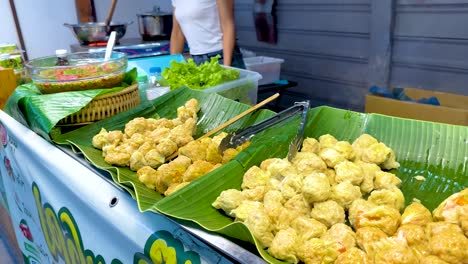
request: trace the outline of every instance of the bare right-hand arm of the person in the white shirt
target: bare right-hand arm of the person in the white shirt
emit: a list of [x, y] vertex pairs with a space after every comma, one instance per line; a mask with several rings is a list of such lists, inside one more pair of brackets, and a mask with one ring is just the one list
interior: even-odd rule
[[221, 31], [223, 32], [223, 61], [230, 66], [236, 42], [234, 25], [234, 0], [217, 0]]

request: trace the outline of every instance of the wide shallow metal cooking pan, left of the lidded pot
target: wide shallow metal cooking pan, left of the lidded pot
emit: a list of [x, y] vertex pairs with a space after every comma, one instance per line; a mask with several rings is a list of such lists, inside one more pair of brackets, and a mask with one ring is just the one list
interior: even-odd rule
[[75, 37], [82, 45], [87, 45], [89, 43], [95, 42], [107, 42], [112, 31], [117, 33], [115, 40], [118, 42], [119, 39], [125, 35], [127, 26], [132, 23], [133, 22], [111, 22], [109, 26], [106, 24], [106, 22], [88, 22], [81, 24], [64, 23], [64, 25], [73, 31]]

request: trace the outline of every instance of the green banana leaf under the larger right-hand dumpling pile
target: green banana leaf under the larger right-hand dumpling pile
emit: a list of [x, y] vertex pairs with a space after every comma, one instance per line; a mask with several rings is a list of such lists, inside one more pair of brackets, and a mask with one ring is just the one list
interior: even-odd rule
[[[297, 125], [294, 120], [259, 134], [252, 145], [235, 160], [191, 185], [159, 201], [151, 209], [181, 220], [197, 223], [202, 228], [256, 245], [259, 254], [269, 263], [284, 263], [268, 254], [248, 228], [211, 204], [226, 189], [240, 189], [242, 176], [248, 168], [267, 158], [284, 158]], [[391, 147], [401, 167], [393, 170], [402, 179], [406, 204], [419, 199], [433, 210], [452, 193], [468, 187], [468, 127], [363, 114], [330, 107], [318, 107], [309, 112], [305, 136], [318, 138], [331, 134], [339, 140], [353, 141], [368, 133]], [[274, 140], [270, 140], [274, 138]], [[422, 175], [425, 181], [414, 176]]]

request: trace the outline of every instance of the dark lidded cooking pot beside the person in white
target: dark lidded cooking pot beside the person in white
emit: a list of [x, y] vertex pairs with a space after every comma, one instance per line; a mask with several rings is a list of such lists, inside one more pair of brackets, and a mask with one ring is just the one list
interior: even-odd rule
[[169, 39], [172, 31], [172, 14], [161, 12], [159, 7], [153, 11], [137, 14], [138, 29], [143, 40]]

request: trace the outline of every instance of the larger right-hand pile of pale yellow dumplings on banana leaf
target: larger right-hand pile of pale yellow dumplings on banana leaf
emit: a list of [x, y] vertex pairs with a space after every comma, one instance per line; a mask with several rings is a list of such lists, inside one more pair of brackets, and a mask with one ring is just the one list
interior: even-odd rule
[[[446, 213], [454, 223], [439, 226], [421, 204], [404, 210], [401, 180], [384, 171], [398, 167], [394, 152], [368, 134], [352, 144], [306, 138], [292, 161], [251, 167], [241, 190], [223, 191], [212, 206], [289, 263], [468, 263], [466, 211]], [[448, 239], [437, 242], [440, 230], [450, 230], [445, 237], [456, 238], [460, 250], [450, 250]]]

